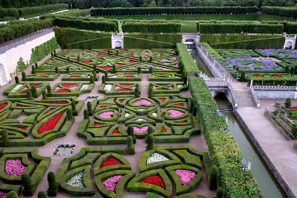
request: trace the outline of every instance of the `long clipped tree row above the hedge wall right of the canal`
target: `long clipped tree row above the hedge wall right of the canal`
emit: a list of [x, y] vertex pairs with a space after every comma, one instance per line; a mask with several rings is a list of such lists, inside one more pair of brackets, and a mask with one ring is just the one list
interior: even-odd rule
[[197, 31], [206, 34], [221, 33], [253, 33], [253, 34], [282, 34], [283, 24], [268, 23], [201, 23], [197, 22]]

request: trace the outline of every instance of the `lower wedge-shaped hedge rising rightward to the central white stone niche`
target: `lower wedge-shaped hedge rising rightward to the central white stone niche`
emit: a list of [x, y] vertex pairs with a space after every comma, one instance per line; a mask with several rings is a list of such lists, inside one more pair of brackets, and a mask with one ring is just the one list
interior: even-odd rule
[[86, 41], [80, 41], [76, 43], [70, 43], [64, 46], [65, 49], [88, 49], [89, 45], [91, 49], [111, 49], [111, 37], [103, 37], [100, 39], [91, 39]]

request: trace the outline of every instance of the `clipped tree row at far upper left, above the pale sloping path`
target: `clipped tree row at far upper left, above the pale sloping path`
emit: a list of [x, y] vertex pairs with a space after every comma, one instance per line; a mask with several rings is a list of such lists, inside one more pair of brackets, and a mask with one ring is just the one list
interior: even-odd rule
[[67, 4], [53, 4], [36, 7], [23, 7], [23, 8], [0, 8], [0, 18], [4, 17], [21, 17], [25, 15], [32, 15], [41, 12], [48, 12], [50, 10], [68, 8]]

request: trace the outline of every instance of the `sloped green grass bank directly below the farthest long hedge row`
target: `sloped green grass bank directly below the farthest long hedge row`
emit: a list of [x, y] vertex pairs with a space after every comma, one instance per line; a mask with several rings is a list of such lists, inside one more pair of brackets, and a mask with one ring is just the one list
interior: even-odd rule
[[129, 15], [129, 16], [103, 16], [109, 19], [139, 19], [139, 20], [152, 20], [152, 19], [166, 19], [166, 20], [256, 20], [259, 15]]

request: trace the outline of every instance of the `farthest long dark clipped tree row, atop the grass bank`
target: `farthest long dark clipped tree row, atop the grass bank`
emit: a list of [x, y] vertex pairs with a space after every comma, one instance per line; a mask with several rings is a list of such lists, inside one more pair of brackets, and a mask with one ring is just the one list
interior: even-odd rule
[[214, 13], [214, 12], [257, 12], [253, 7], [138, 7], [138, 8], [95, 8], [90, 9], [92, 14], [132, 14], [132, 13]]

